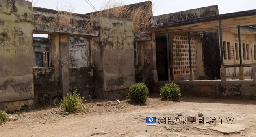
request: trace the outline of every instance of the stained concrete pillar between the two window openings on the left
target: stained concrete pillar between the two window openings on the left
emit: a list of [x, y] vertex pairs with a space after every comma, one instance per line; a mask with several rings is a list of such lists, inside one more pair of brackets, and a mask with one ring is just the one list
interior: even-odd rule
[[69, 93], [69, 42], [68, 36], [60, 35], [60, 86], [63, 97]]

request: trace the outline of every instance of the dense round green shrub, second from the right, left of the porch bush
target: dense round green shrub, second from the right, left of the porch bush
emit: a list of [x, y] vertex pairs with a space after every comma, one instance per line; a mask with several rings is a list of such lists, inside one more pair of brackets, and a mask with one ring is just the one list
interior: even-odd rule
[[148, 88], [143, 83], [137, 83], [129, 88], [128, 98], [132, 102], [145, 103], [148, 98]]

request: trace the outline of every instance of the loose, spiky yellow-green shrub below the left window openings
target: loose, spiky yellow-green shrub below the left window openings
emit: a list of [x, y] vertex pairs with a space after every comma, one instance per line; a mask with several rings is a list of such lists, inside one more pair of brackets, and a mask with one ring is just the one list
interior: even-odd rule
[[61, 110], [63, 112], [78, 112], [83, 109], [83, 99], [84, 97], [80, 97], [79, 93], [76, 93], [77, 90], [74, 92], [70, 92], [67, 94], [67, 97], [64, 97], [61, 100]]

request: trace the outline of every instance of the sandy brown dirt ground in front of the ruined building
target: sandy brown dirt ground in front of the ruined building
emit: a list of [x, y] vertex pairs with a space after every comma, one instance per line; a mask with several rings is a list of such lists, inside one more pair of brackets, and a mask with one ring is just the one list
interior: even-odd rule
[[[115, 103], [113, 101], [112, 103]], [[0, 137], [256, 137], [256, 100], [181, 97], [180, 102], [148, 98], [147, 105], [123, 100], [118, 105], [98, 106], [109, 101], [93, 100], [87, 114], [62, 115], [56, 106], [11, 114], [0, 127]], [[89, 105], [89, 104], [87, 104]], [[147, 116], [197, 115], [216, 117], [214, 125], [146, 126]], [[222, 125], [219, 117], [234, 117]]]

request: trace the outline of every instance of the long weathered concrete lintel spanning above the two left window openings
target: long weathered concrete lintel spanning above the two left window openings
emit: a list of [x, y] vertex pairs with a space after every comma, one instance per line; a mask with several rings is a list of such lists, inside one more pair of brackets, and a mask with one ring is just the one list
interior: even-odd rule
[[77, 36], [84, 38], [98, 37], [99, 31], [96, 30], [87, 30], [79, 29], [72, 27], [62, 27], [62, 26], [53, 26], [53, 25], [33, 25], [33, 33], [36, 34], [61, 34], [67, 36]]

